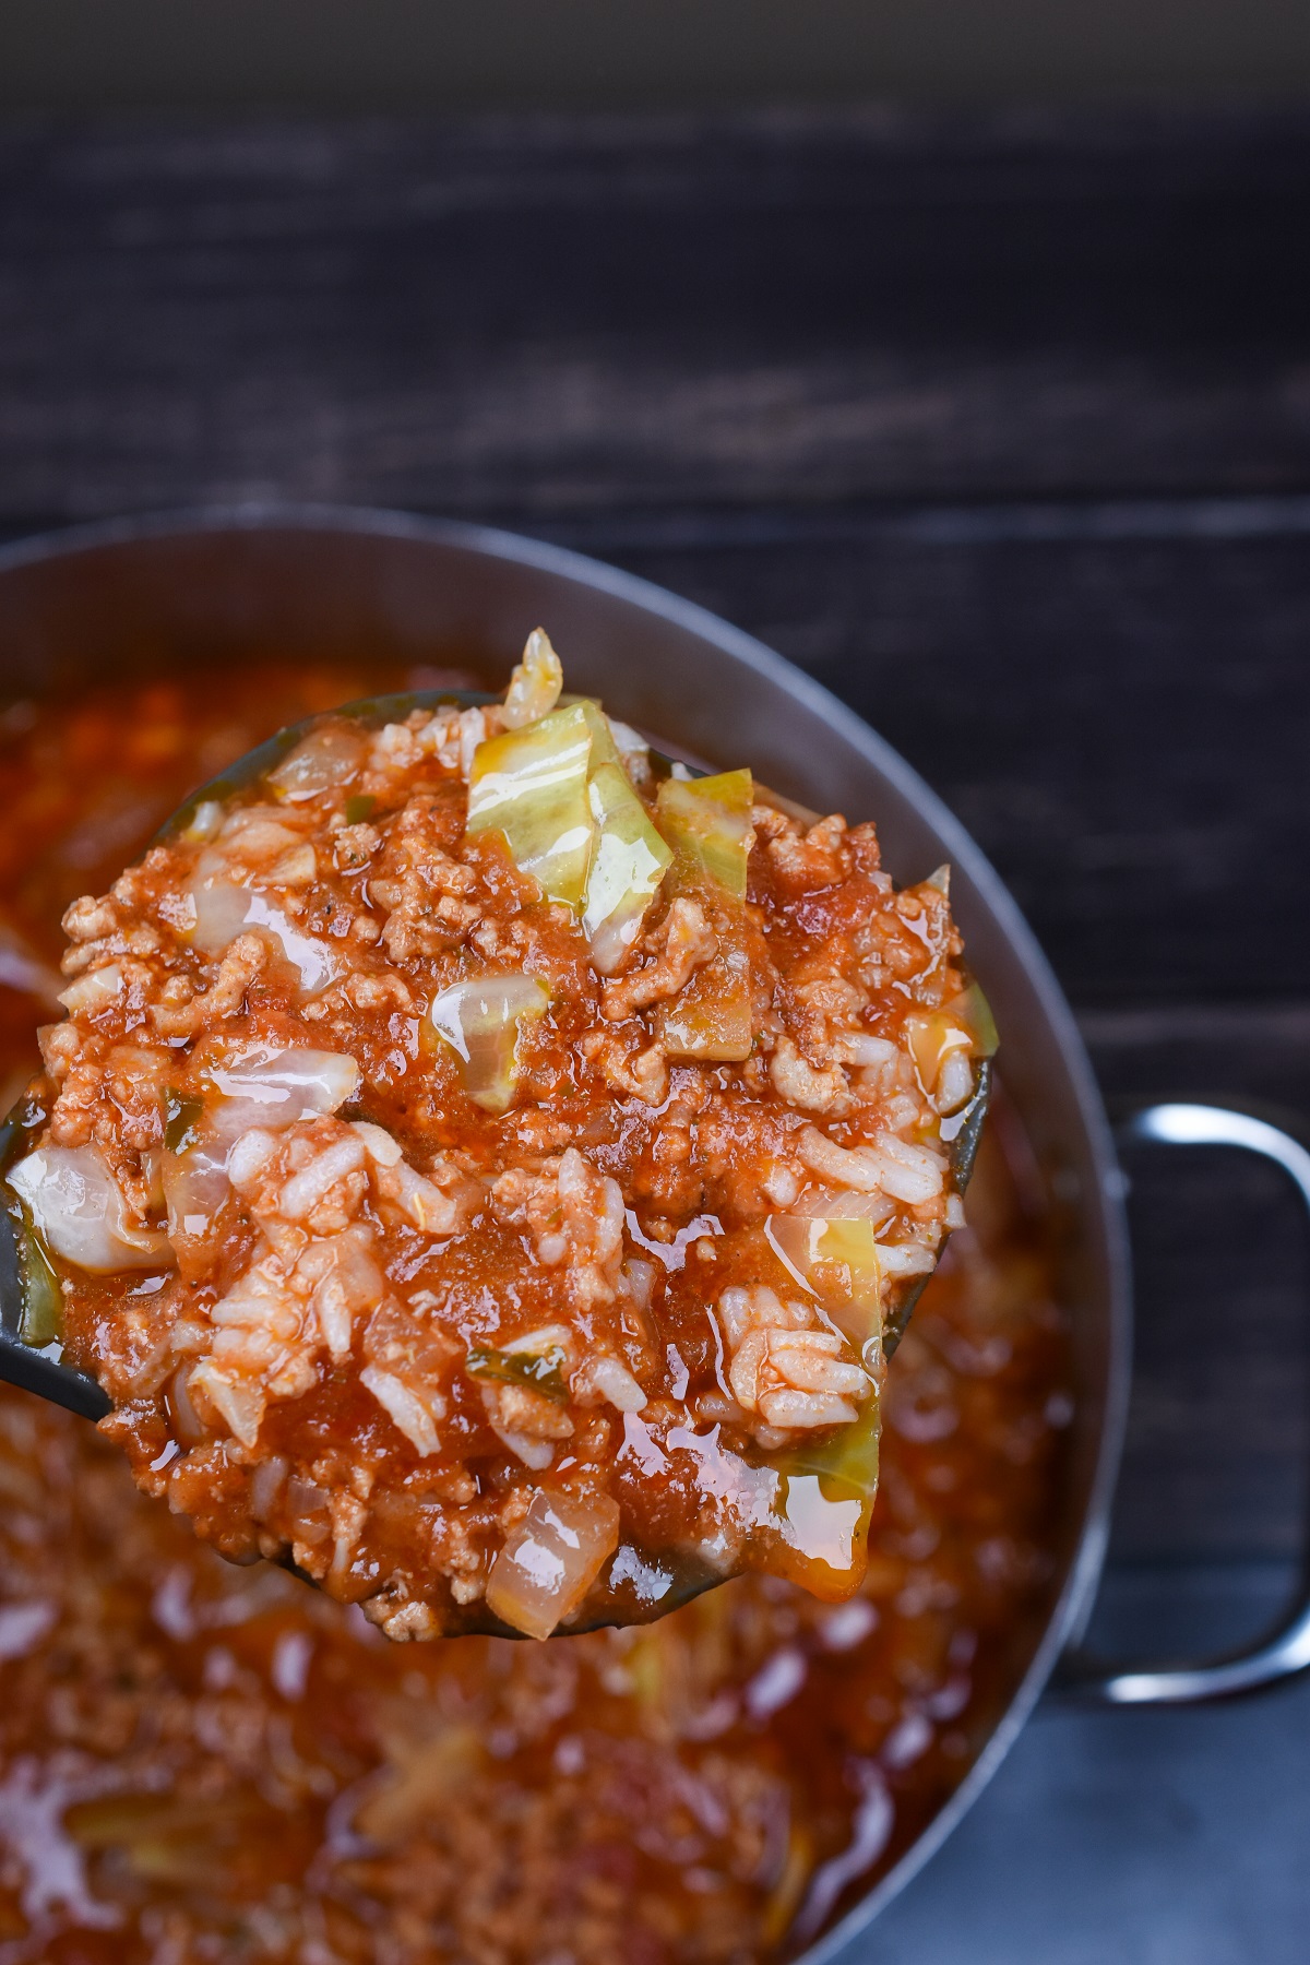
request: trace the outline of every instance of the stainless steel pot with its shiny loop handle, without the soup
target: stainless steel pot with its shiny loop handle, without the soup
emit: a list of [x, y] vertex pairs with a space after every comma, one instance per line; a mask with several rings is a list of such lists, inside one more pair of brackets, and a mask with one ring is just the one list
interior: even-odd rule
[[[1021, 1639], [1017, 1690], [962, 1786], [864, 1900], [807, 1953], [831, 1957], [915, 1875], [996, 1772], [1051, 1682], [1112, 1704], [1224, 1698], [1310, 1666], [1302, 1598], [1255, 1647], [1200, 1666], [1106, 1670], [1078, 1649], [1106, 1546], [1129, 1385], [1123, 1177], [1068, 1006], [968, 833], [864, 723], [758, 641], [593, 560], [481, 527], [395, 513], [240, 507], [98, 525], [0, 552], [0, 690], [77, 690], [179, 662], [375, 652], [452, 660], [501, 682], [548, 623], [570, 682], [717, 764], [748, 758], [825, 812], [874, 817], [898, 880], [951, 861], [970, 963], [996, 1010], [1004, 1081], [1066, 1222], [1076, 1413], [1059, 1572], [1045, 1625]], [[1294, 1126], [1235, 1106], [1157, 1104], [1127, 1134], [1263, 1153], [1310, 1208]]]

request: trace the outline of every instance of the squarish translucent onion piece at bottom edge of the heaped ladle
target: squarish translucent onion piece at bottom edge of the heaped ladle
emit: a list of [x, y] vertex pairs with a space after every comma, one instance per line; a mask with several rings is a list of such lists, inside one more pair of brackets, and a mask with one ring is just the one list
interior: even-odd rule
[[524, 1637], [550, 1637], [617, 1546], [619, 1503], [607, 1493], [540, 1489], [491, 1564], [487, 1609]]

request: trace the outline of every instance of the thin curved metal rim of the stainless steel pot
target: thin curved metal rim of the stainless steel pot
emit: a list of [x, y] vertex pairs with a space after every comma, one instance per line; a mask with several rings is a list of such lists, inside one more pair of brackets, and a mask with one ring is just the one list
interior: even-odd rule
[[766, 643], [756, 641], [742, 629], [733, 627], [707, 607], [687, 601], [668, 588], [660, 588], [638, 574], [623, 572], [603, 560], [556, 546], [546, 540], [511, 533], [501, 527], [479, 525], [462, 519], [438, 519], [416, 513], [371, 507], [371, 505], [324, 505], [308, 501], [253, 499], [236, 503], [153, 509], [137, 515], [114, 519], [92, 519], [67, 527], [49, 529], [0, 546], [0, 576], [20, 572], [41, 562], [75, 558], [82, 552], [96, 552], [114, 546], [134, 546], [145, 540], [165, 540], [173, 536], [220, 534], [220, 533], [342, 533], [350, 536], [377, 536], [414, 540], [436, 546], [450, 546], [481, 558], [503, 560], [515, 566], [538, 568], [544, 574], [575, 582], [583, 588], [607, 593], [617, 601], [640, 609], [699, 637], [711, 646], [731, 654], [746, 670], [768, 678], [795, 700], [799, 700], [817, 719], [829, 725], [846, 745], [868, 758], [874, 768], [888, 778], [896, 790], [917, 808], [935, 827], [949, 847], [951, 861], [968, 870], [968, 878], [978, 890], [984, 906], [1002, 927], [1006, 941], [1017, 955], [1041, 1014], [1055, 1038], [1057, 1049], [1068, 1073], [1074, 1093], [1078, 1122], [1086, 1136], [1090, 1161], [1096, 1169], [1094, 1191], [1088, 1191], [1082, 1205], [1098, 1216], [1106, 1250], [1108, 1273], [1108, 1372], [1106, 1401], [1102, 1413], [1100, 1440], [1082, 1527], [1076, 1535], [1064, 1582], [1049, 1611], [1043, 1635], [1023, 1672], [1010, 1704], [996, 1721], [988, 1741], [970, 1767], [964, 1780], [933, 1820], [919, 1831], [898, 1863], [870, 1888], [852, 1908], [805, 1951], [795, 1955], [795, 1965], [829, 1965], [886, 1906], [900, 1896], [913, 1877], [941, 1849], [956, 1824], [974, 1806], [986, 1784], [992, 1780], [1002, 1761], [1010, 1753], [1019, 1731], [1027, 1723], [1033, 1706], [1055, 1670], [1061, 1653], [1076, 1643], [1088, 1621], [1096, 1586], [1106, 1554], [1110, 1533], [1110, 1507], [1119, 1470], [1123, 1446], [1123, 1427], [1127, 1417], [1127, 1391], [1131, 1377], [1131, 1269], [1127, 1254], [1127, 1218], [1123, 1210], [1123, 1181], [1119, 1175], [1110, 1120], [1102, 1104], [1082, 1036], [1074, 1024], [1072, 1010], [1055, 979], [1055, 973], [1027, 926], [1000, 874], [974, 843], [964, 825], [931, 790], [931, 786], [901, 758], [892, 745], [880, 737], [862, 717], [848, 709], [837, 696], [815, 682], [805, 670], [795, 668], [776, 654]]

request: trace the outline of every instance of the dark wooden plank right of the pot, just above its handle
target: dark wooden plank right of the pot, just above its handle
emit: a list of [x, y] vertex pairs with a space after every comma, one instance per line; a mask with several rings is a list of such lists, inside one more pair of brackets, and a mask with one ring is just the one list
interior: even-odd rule
[[1078, 1006], [1233, 1002], [1310, 975], [1306, 519], [1292, 499], [829, 511], [613, 544], [917, 764]]

